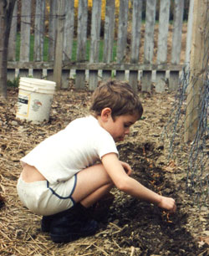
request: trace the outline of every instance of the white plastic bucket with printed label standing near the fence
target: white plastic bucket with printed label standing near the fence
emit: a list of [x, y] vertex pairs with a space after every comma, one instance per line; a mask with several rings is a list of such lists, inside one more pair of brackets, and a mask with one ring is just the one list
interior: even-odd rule
[[16, 117], [33, 123], [48, 121], [55, 86], [53, 81], [21, 77]]

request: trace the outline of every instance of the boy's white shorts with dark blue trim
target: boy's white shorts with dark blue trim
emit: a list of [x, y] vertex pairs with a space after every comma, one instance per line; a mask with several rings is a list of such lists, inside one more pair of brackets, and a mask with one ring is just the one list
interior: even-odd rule
[[74, 206], [72, 194], [76, 186], [75, 175], [66, 182], [49, 184], [48, 181], [24, 182], [18, 179], [18, 196], [25, 207], [38, 215], [52, 215]]

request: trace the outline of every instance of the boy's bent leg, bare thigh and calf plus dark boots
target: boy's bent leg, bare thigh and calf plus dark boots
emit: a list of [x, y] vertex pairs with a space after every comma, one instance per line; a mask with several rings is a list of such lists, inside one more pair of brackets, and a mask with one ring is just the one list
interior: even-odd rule
[[110, 191], [111, 187], [113, 183], [101, 164], [90, 166], [79, 172], [72, 197], [81, 205], [77, 203], [66, 212], [60, 212], [49, 220], [48, 231], [52, 240], [55, 243], [66, 243], [75, 238], [94, 234], [98, 229], [98, 224], [89, 219], [89, 212], [86, 212], [84, 207], [97, 202]]

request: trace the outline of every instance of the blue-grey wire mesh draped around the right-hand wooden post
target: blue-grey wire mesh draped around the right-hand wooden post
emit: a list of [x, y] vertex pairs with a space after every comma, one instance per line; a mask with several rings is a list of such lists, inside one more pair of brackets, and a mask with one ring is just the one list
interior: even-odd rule
[[[189, 70], [183, 70], [179, 90], [163, 136], [169, 141], [169, 158], [176, 154], [178, 161], [186, 161], [186, 188], [197, 204], [208, 205], [209, 199], [209, 79], [204, 80], [201, 101], [198, 105], [199, 120], [194, 140], [188, 145], [184, 141], [186, 120], [186, 89], [190, 78]], [[186, 159], [183, 151], [187, 151]]]

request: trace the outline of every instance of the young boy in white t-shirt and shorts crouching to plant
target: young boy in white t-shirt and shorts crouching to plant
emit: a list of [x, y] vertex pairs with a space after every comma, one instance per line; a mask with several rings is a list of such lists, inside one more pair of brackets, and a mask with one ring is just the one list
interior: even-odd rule
[[18, 195], [29, 210], [42, 215], [42, 230], [55, 243], [92, 235], [98, 224], [87, 208], [117, 187], [169, 212], [174, 199], [163, 197], [130, 177], [130, 166], [119, 160], [115, 142], [123, 141], [140, 120], [138, 95], [125, 82], [101, 84], [92, 97], [91, 115], [69, 123], [21, 159]]

